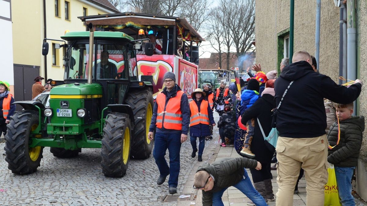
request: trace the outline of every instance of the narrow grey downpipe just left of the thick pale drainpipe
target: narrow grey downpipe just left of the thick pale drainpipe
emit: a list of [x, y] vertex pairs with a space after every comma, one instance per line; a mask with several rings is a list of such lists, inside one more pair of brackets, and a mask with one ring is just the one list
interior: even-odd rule
[[[339, 77], [346, 78], [346, 62], [347, 62], [347, 34], [346, 34], [346, 4], [340, 6], [339, 18]], [[343, 84], [343, 80], [339, 79], [339, 84]]]

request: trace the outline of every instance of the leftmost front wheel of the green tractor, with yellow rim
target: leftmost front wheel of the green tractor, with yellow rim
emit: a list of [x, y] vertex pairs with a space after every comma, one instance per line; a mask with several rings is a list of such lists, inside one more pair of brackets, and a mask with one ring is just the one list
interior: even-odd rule
[[43, 157], [43, 147], [28, 147], [30, 132], [39, 124], [38, 112], [21, 110], [15, 112], [10, 118], [4, 147], [8, 169], [14, 174], [34, 173]]

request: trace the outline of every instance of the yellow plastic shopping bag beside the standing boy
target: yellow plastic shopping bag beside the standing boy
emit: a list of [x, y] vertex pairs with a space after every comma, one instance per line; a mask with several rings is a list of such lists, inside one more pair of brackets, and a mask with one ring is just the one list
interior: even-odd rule
[[327, 180], [325, 188], [325, 201], [324, 206], [341, 206], [342, 204], [339, 201], [338, 187], [337, 187], [337, 179], [335, 177], [335, 168], [334, 165], [331, 165], [330, 168], [327, 169], [329, 173], [329, 177]]

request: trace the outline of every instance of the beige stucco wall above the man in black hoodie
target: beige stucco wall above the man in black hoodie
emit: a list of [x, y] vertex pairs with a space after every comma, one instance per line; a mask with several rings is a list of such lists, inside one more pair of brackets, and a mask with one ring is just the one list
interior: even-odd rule
[[[316, 3], [295, 0], [294, 51], [315, 55]], [[277, 33], [289, 28], [289, 0], [256, 0], [255, 40], [257, 63], [265, 71], [277, 67]], [[320, 72], [338, 78], [339, 8], [322, 1], [320, 21]]]

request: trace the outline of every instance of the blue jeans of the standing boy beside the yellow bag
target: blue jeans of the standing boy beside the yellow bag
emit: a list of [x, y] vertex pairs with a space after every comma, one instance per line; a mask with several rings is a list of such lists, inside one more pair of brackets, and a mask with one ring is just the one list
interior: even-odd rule
[[356, 167], [337, 167], [335, 166], [335, 176], [337, 178], [337, 186], [339, 198], [342, 205], [354, 206], [354, 197], [352, 195], [352, 176]]

